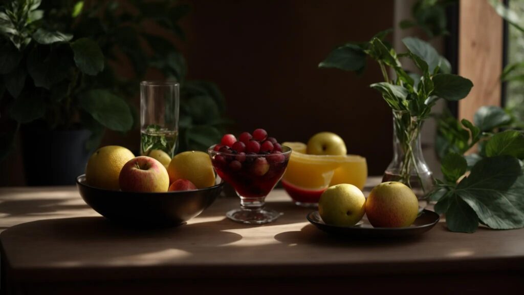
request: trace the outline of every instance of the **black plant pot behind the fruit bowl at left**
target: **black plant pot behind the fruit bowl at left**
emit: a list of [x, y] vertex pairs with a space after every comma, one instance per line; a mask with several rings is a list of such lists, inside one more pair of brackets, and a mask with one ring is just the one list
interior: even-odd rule
[[35, 123], [21, 128], [27, 185], [73, 185], [83, 174], [90, 151], [85, 143], [91, 131], [50, 130]]

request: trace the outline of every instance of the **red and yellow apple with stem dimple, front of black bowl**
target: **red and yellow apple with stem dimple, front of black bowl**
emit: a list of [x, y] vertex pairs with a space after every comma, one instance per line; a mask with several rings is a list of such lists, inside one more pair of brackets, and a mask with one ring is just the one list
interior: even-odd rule
[[138, 156], [122, 167], [118, 183], [125, 192], [167, 192], [169, 174], [158, 160]]

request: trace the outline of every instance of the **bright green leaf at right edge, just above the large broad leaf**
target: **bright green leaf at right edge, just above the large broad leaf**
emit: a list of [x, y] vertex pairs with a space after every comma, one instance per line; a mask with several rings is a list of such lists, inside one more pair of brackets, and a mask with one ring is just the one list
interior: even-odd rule
[[524, 159], [524, 134], [517, 130], [506, 130], [492, 136], [486, 143], [488, 157], [508, 155]]

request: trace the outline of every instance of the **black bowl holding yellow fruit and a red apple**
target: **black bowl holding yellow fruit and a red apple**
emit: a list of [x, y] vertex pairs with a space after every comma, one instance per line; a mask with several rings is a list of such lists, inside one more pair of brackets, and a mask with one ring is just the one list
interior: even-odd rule
[[139, 228], [184, 224], [208, 208], [222, 186], [223, 183], [195, 191], [133, 193], [89, 186], [85, 174], [77, 177], [80, 195], [91, 208], [113, 222]]

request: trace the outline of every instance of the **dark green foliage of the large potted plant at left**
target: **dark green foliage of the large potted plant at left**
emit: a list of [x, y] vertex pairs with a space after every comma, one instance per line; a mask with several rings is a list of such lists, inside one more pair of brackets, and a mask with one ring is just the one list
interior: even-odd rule
[[[0, 8], [0, 94], [16, 127], [2, 134], [0, 157], [19, 125], [35, 120], [52, 130], [89, 129], [90, 150], [106, 128], [129, 131], [139, 119], [128, 98], [150, 68], [181, 83], [179, 150], [220, 139], [223, 97], [213, 83], [185, 79], [184, 58], [171, 41], [185, 38], [178, 22], [188, 12], [168, 0], [6, 3]], [[117, 73], [125, 62], [130, 78]]]

